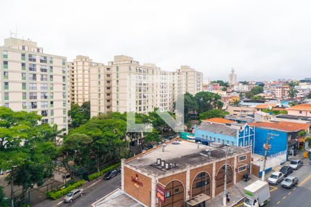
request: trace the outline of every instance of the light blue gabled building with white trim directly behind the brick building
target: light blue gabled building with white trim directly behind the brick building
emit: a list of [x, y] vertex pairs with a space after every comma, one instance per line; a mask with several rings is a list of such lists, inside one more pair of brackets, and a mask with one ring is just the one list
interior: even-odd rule
[[233, 146], [252, 146], [254, 127], [248, 124], [215, 124], [202, 122], [195, 128], [196, 141], [209, 145], [211, 142]]

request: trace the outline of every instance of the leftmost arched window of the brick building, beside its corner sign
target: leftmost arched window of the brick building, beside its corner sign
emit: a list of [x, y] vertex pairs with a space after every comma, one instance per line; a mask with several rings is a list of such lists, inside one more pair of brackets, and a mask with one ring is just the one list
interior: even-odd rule
[[184, 206], [184, 186], [180, 181], [171, 181], [165, 186], [165, 201], [161, 204], [162, 207]]

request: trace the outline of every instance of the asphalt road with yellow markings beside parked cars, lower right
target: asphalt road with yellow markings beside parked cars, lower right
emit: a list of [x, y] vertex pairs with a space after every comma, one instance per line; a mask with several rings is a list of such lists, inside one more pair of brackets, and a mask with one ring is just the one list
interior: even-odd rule
[[[293, 188], [283, 188], [281, 184], [270, 186], [271, 200], [267, 207], [310, 207], [311, 206], [311, 165], [308, 162], [290, 175], [298, 177], [299, 183]], [[235, 207], [243, 206], [243, 201]]]

